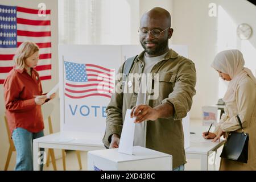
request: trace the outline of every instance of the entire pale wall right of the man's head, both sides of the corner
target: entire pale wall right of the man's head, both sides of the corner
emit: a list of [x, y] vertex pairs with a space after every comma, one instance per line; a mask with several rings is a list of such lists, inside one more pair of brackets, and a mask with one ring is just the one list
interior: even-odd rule
[[[221, 6], [226, 15], [217, 11], [217, 16], [211, 18], [208, 15], [209, 3]], [[237, 39], [236, 27], [240, 23], [249, 23], [256, 31], [256, 6], [245, 0], [174, 0], [172, 14], [172, 43], [187, 44], [189, 59], [196, 64], [197, 93], [193, 99], [191, 118], [200, 119], [201, 107], [216, 104], [218, 94], [221, 96], [225, 92], [225, 84], [219, 83], [217, 72], [210, 67], [218, 51], [240, 49], [246, 66], [255, 72], [256, 36], [254, 34], [249, 41], [241, 41]], [[221, 24], [224, 16], [229, 18]]]

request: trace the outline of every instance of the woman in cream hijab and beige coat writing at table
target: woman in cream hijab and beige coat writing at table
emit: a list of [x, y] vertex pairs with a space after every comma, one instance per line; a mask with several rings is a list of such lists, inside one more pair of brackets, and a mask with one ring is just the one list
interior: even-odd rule
[[238, 114], [243, 131], [249, 134], [248, 161], [240, 163], [221, 158], [220, 170], [256, 170], [256, 78], [250, 69], [245, 68], [240, 51], [226, 50], [218, 53], [212, 63], [223, 80], [229, 81], [228, 90], [223, 98], [225, 114], [213, 133], [203, 133], [205, 139], [220, 140], [230, 131], [241, 132], [237, 121]]

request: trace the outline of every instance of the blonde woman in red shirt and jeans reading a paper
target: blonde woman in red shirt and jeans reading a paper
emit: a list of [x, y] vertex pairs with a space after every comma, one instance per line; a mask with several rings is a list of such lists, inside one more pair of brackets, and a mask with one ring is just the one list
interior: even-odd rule
[[[35, 43], [20, 44], [14, 68], [3, 84], [6, 117], [16, 148], [15, 170], [33, 170], [32, 140], [44, 135], [41, 105], [48, 100], [34, 69], [38, 60], [39, 47]], [[54, 97], [52, 94], [50, 99]]]

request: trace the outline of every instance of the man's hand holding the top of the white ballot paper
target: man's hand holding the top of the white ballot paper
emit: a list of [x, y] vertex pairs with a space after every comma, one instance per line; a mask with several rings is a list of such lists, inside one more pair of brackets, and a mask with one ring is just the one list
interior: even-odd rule
[[135, 123], [141, 123], [145, 120], [155, 121], [158, 119], [158, 111], [148, 105], [138, 105], [131, 109], [131, 118], [135, 118]]

